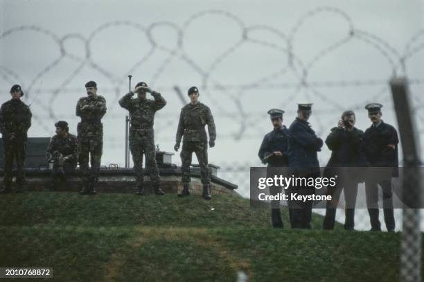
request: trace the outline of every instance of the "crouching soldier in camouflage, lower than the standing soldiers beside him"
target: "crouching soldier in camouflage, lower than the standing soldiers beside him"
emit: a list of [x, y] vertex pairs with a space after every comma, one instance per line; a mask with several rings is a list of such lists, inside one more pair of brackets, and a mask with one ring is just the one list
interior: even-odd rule
[[68, 123], [58, 121], [55, 123], [56, 135], [51, 137], [46, 150], [46, 159], [53, 163], [51, 171], [51, 189], [66, 181], [66, 174], [75, 170], [78, 163], [77, 137], [69, 133]]

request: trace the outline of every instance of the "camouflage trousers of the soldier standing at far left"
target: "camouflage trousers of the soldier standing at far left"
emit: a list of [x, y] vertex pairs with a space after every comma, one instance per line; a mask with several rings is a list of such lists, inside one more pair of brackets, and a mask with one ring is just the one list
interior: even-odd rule
[[12, 185], [13, 161], [16, 161], [16, 183], [21, 188], [25, 183], [25, 155], [26, 141], [15, 139], [13, 141], [3, 138], [4, 148], [4, 188], [9, 189]]

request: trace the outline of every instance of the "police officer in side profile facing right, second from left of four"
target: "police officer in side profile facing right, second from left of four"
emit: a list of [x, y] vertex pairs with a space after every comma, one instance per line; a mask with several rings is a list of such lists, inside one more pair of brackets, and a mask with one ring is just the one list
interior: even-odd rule
[[[289, 127], [289, 166], [294, 177], [319, 177], [319, 162], [317, 152], [323, 145], [315, 131], [312, 130], [308, 119], [312, 114], [312, 104], [299, 104], [297, 118]], [[312, 201], [290, 200], [291, 193], [312, 195], [315, 186], [298, 186], [287, 189], [289, 195], [290, 223], [292, 228], [310, 229], [312, 219]]]

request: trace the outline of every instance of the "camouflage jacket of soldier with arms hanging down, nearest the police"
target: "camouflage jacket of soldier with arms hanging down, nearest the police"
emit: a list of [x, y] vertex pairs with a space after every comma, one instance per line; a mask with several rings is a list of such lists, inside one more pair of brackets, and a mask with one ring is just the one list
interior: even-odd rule
[[208, 106], [197, 103], [188, 104], [181, 109], [177, 129], [176, 141], [181, 142], [184, 136], [184, 142], [208, 141], [204, 125], [208, 125], [209, 139], [216, 139], [216, 128], [213, 122], [211, 109]]

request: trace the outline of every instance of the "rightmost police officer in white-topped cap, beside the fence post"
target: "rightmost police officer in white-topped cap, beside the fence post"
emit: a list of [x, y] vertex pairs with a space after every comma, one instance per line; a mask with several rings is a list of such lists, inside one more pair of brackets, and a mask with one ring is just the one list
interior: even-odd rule
[[371, 231], [380, 231], [380, 220], [378, 220], [378, 185], [380, 185], [387, 231], [394, 231], [391, 177], [398, 177], [399, 139], [396, 129], [382, 121], [381, 108], [382, 105], [379, 103], [371, 103], [365, 106], [372, 122], [371, 127], [365, 131], [362, 142], [366, 166], [370, 167], [365, 182], [366, 205], [368, 206]]

